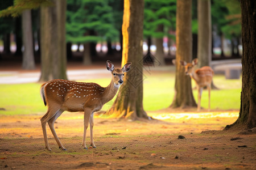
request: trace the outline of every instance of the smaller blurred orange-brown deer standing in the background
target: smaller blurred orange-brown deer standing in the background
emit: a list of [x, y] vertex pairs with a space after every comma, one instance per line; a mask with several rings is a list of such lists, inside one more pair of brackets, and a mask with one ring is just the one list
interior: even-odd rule
[[208, 88], [208, 111], [210, 111], [210, 85], [212, 83], [212, 77], [214, 72], [209, 66], [201, 67], [200, 69], [194, 70], [194, 66], [197, 64], [197, 58], [193, 59], [192, 63], [187, 63], [185, 61], [180, 61], [180, 64], [185, 67], [185, 74], [190, 75], [192, 79], [195, 80], [198, 89], [198, 103], [197, 112], [201, 109], [201, 96], [203, 88], [207, 86]]

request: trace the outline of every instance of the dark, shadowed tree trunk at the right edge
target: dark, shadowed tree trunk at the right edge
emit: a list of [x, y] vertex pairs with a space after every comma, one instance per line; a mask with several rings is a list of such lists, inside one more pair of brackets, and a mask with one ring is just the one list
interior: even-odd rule
[[[241, 0], [242, 12], [242, 92], [239, 117], [234, 124], [245, 129], [256, 127], [256, 2]], [[229, 129], [230, 125], [225, 129]]]

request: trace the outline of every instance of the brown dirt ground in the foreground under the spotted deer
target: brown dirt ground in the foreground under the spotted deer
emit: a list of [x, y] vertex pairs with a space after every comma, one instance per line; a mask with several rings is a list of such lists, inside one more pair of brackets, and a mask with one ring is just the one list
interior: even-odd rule
[[256, 134], [221, 130], [236, 121], [238, 111], [167, 109], [148, 112], [158, 118], [151, 121], [96, 115], [97, 148], [88, 150], [81, 146], [83, 114], [64, 112], [55, 129], [67, 151], [57, 147], [48, 126], [52, 151], [46, 150], [43, 114], [0, 116], [0, 169], [256, 169]]

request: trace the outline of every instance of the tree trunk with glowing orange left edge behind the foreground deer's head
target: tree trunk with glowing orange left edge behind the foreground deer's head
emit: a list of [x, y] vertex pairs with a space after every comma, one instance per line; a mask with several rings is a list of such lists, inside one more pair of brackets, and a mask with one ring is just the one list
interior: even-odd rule
[[115, 117], [148, 118], [143, 109], [143, 0], [125, 0], [123, 12], [122, 66], [132, 62], [109, 113]]

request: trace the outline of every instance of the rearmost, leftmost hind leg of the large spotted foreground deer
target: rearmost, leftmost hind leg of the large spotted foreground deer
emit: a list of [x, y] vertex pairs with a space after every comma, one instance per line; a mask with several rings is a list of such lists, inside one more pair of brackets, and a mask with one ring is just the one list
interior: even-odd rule
[[56, 114], [58, 110], [59, 109], [48, 109], [46, 114], [44, 114], [44, 116], [41, 118], [41, 124], [42, 124], [43, 135], [44, 135], [44, 143], [48, 151], [51, 151], [51, 148], [49, 147], [49, 143], [48, 143], [46, 123]]

